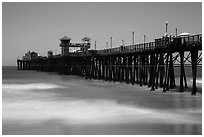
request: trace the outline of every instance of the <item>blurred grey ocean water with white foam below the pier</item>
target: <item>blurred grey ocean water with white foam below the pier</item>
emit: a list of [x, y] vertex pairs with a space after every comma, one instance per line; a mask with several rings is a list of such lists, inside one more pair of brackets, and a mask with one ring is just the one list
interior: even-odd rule
[[201, 93], [163, 93], [16, 67], [3, 67], [2, 82], [4, 135], [202, 134]]

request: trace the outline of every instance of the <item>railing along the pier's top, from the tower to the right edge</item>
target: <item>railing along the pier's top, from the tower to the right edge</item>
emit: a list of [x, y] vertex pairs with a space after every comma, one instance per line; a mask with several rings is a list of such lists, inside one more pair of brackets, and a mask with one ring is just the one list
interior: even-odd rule
[[155, 39], [154, 42], [135, 44], [129, 46], [120, 46], [104, 50], [97, 50], [97, 54], [114, 54], [114, 53], [132, 53], [141, 51], [150, 51], [156, 48], [171, 48], [175, 46], [197, 46], [202, 43], [202, 34], [186, 37], [163, 37]]

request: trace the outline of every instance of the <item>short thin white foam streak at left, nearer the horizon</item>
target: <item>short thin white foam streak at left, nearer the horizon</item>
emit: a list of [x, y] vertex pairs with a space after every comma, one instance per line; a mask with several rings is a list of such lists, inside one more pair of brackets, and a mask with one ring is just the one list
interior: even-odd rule
[[59, 88], [58, 85], [48, 83], [33, 83], [33, 84], [2, 84], [3, 89], [10, 90], [32, 90], [32, 89], [52, 89]]

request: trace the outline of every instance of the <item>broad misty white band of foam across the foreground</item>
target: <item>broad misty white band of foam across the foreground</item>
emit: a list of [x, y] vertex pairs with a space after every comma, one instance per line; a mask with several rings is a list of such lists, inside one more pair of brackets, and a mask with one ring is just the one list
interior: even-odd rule
[[[201, 110], [195, 110], [201, 114]], [[192, 117], [193, 110], [160, 110], [120, 104], [101, 99], [74, 99], [61, 101], [26, 101], [4, 103], [3, 120], [43, 122], [61, 119], [65, 124], [101, 123], [194, 123], [201, 124], [200, 117]]]

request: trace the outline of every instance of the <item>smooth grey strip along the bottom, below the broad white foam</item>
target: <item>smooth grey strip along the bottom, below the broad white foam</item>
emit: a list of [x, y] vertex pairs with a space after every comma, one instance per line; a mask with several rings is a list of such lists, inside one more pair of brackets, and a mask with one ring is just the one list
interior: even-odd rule
[[59, 119], [43, 123], [3, 123], [4, 135], [201, 135], [201, 125], [193, 124], [94, 124], [67, 125]]

